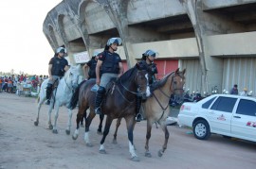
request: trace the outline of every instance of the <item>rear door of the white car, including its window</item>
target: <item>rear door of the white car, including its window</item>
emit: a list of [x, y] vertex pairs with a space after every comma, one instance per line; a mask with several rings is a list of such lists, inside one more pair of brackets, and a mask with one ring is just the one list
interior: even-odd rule
[[207, 113], [211, 132], [230, 133], [232, 111], [236, 101], [237, 98], [225, 96], [219, 96], [214, 101]]

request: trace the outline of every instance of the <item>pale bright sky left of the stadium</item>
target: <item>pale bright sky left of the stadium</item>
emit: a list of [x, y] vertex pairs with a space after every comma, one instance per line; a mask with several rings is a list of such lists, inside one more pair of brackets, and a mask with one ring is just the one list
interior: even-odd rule
[[0, 72], [47, 75], [54, 55], [43, 32], [46, 14], [62, 0], [0, 1]]

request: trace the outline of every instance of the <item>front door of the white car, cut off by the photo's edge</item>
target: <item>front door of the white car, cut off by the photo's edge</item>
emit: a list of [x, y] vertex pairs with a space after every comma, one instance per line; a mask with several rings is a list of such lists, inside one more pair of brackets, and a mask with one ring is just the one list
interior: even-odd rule
[[240, 99], [231, 121], [231, 133], [256, 141], [256, 102]]

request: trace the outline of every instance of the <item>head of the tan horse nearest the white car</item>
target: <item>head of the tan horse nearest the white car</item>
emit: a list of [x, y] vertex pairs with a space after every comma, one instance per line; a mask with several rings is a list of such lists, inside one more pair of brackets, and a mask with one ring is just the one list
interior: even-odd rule
[[174, 95], [174, 101], [178, 104], [181, 104], [183, 101], [183, 86], [185, 84], [185, 73], [186, 69], [179, 71], [179, 68], [174, 72], [171, 80], [171, 92]]

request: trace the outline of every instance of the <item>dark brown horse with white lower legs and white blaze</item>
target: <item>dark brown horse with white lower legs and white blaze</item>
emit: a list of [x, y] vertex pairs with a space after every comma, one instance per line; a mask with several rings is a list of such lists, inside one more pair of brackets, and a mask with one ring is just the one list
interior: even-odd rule
[[[133, 130], [137, 94], [144, 98], [150, 94], [146, 69], [147, 66], [145, 63], [139, 62], [134, 68], [120, 76], [112, 87], [108, 88], [105, 99], [101, 104], [101, 112], [107, 115], [107, 119], [101, 139], [100, 153], [105, 153], [103, 144], [113, 119], [123, 117], [126, 121], [129, 150], [132, 156], [132, 161], [139, 161], [133, 143]], [[91, 121], [95, 117], [94, 101], [96, 93], [91, 92], [91, 88], [94, 84], [95, 81], [88, 80], [81, 86], [79, 94], [79, 111], [77, 114], [77, 129], [73, 134], [73, 139], [76, 140], [79, 135], [80, 121], [84, 113], [86, 113], [86, 110], [90, 109], [90, 113], [85, 119], [84, 141], [87, 146], [91, 146], [88, 133]]]

